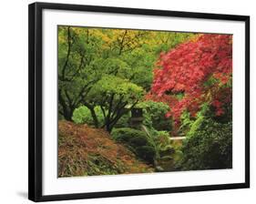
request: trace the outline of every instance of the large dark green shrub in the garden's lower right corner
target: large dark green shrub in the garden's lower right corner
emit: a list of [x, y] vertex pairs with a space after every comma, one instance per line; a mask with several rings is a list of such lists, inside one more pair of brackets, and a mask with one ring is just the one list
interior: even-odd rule
[[181, 148], [179, 167], [184, 170], [232, 167], [232, 124], [204, 118], [189, 132]]

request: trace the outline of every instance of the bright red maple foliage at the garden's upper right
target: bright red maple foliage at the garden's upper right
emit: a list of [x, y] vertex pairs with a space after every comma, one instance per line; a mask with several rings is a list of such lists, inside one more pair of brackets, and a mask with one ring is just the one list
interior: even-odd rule
[[204, 102], [216, 107], [216, 115], [223, 114], [228, 102], [223, 96], [231, 95], [231, 35], [200, 35], [161, 54], [157, 66], [148, 97], [169, 103], [167, 117], [179, 119], [185, 109], [195, 116]]

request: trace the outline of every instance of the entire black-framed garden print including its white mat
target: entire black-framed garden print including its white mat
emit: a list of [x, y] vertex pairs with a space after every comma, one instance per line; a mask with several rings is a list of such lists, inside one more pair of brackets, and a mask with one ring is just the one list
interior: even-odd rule
[[29, 199], [250, 187], [250, 17], [29, 5]]

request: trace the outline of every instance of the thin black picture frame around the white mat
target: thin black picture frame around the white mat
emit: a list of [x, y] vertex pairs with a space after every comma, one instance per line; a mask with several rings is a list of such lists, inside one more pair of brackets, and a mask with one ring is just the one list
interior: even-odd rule
[[[92, 193], [77, 193], [63, 195], [42, 195], [42, 11], [57, 9], [68, 11], [91, 11], [112, 14], [128, 15], [159, 15], [176, 16], [198, 19], [231, 20], [245, 22], [245, 182], [189, 186], [162, 189], [132, 189], [119, 191], [104, 191]], [[246, 15], [219, 15], [192, 12], [177, 12], [167, 10], [148, 10], [138, 8], [108, 7], [94, 5], [67, 5], [34, 3], [29, 5], [29, 142], [28, 142], [28, 199], [33, 201], [49, 201], [64, 199], [91, 199], [104, 197], [120, 197], [147, 194], [175, 193], [187, 191], [216, 190], [216, 189], [243, 189], [250, 187], [250, 16]]]

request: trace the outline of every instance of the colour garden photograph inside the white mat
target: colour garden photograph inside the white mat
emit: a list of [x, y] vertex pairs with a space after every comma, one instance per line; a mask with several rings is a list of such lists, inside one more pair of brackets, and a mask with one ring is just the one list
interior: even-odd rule
[[57, 26], [59, 178], [232, 168], [232, 35]]

